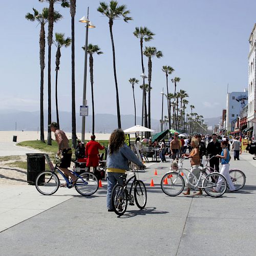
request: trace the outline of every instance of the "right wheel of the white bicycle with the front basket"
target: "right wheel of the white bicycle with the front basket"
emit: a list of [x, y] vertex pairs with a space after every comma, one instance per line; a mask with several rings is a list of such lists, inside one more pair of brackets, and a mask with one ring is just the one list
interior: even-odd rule
[[[219, 179], [222, 180], [219, 182]], [[212, 191], [217, 186], [217, 183], [220, 183], [220, 189], [218, 192]], [[205, 193], [210, 197], [221, 197], [227, 190], [227, 181], [226, 178], [219, 173], [211, 173], [206, 176], [203, 184]]]

